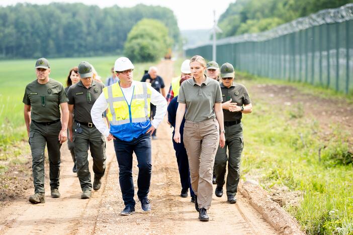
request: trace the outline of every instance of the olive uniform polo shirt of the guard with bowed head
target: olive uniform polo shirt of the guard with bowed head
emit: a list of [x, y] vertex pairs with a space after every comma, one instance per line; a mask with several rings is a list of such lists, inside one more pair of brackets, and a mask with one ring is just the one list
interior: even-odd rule
[[69, 104], [73, 104], [73, 115], [77, 122], [92, 123], [91, 109], [100, 94], [103, 92], [104, 84], [92, 80], [89, 88], [81, 81], [71, 85], [67, 91]]

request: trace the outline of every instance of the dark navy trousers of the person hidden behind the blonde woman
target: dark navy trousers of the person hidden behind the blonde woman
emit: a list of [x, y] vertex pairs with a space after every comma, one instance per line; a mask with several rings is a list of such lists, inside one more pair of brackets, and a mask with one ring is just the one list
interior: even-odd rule
[[182, 189], [187, 190], [190, 188], [190, 196], [195, 196], [194, 190], [191, 187], [190, 182], [190, 171], [189, 171], [189, 160], [188, 154], [186, 152], [184, 143], [177, 144], [173, 141], [173, 147], [175, 150], [175, 155], [177, 156], [178, 170], [180, 175], [180, 182], [182, 184]]

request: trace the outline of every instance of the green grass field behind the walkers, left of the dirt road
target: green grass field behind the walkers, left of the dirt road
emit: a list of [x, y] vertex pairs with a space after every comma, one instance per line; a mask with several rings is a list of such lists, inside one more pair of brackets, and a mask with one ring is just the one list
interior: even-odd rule
[[[50, 77], [65, 86], [70, 68], [86, 60], [93, 64], [102, 80], [105, 81], [111, 75], [111, 68], [117, 58], [118, 56], [48, 58], [51, 66]], [[35, 62], [35, 59], [0, 61], [0, 84], [2, 84], [0, 86], [0, 150], [5, 152], [7, 152], [9, 144], [22, 140], [27, 135], [24, 127], [22, 99], [26, 85], [36, 79]], [[135, 64], [134, 78], [141, 79], [143, 71], [151, 65], [155, 65], [155, 63]], [[3, 158], [6, 158], [5, 155]]]

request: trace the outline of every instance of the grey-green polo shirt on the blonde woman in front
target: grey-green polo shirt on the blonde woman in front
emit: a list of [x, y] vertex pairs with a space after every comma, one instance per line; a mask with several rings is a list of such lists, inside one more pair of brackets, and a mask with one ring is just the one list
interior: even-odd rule
[[185, 80], [179, 90], [179, 103], [186, 103], [185, 119], [200, 123], [216, 117], [213, 106], [222, 102], [219, 82], [206, 76], [206, 80], [199, 86], [195, 79]]

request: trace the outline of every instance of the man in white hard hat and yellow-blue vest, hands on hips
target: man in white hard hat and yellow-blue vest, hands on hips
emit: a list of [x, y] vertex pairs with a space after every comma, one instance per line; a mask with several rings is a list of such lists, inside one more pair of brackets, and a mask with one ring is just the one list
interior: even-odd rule
[[[132, 154], [138, 162], [138, 191], [141, 208], [151, 210], [147, 198], [151, 181], [151, 137], [162, 121], [167, 107], [165, 98], [149, 83], [133, 80], [134, 65], [126, 57], [115, 61], [114, 71], [120, 81], [105, 87], [91, 110], [92, 121], [97, 129], [114, 140], [119, 164], [119, 182], [125, 208], [121, 215], [135, 212], [134, 185], [132, 180]], [[150, 121], [150, 103], [156, 105], [156, 114]], [[106, 109], [110, 129], [102, 118]]]

